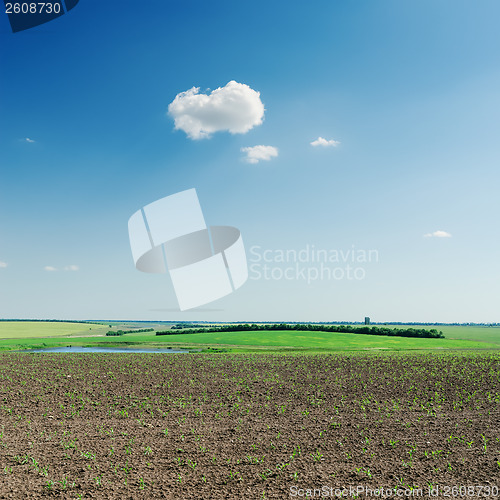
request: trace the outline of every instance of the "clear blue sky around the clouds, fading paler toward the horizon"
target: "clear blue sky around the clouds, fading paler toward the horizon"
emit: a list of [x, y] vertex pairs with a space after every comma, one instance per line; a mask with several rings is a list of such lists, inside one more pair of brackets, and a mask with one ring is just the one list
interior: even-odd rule
[[[500, 321], [499, 17], [488, 0], [80, 0], [13, 34], [0, 16], [0, 316]], [[175, 130], [179, 93], [230, 81], [260, 93], [260, 125]], [[248, 163], [257, 145], [278, 156]], [[168, 276], [134, 268], [127, 221], [193, 187], [249, 261], [378, 260], [354, 280], [251, 272], [175, 312]]]

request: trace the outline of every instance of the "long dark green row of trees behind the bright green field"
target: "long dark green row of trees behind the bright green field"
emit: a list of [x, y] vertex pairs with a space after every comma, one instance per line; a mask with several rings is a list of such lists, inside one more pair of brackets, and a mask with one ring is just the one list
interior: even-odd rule
[[247, 332], [247, 331], [276, 331], [294, 330], [311, 332], [331, 332], [331, 333], [356, 333], [364, 335], [386, 335], [389, 337], [416, 337], [416, 338], [444, 338], [443, 332], [436, 329], [426, 330], [424, 328], [386, 328], [378, 326], [351, 326], [351, 325], [315, 325], [315, 324], [238, 324], [224, 325], [211, 328], [196, 328], [182, 331], [165, 330], [156, 332], [156, 335], [179, 335], [186, 333], [215, 333], [215, 332]]

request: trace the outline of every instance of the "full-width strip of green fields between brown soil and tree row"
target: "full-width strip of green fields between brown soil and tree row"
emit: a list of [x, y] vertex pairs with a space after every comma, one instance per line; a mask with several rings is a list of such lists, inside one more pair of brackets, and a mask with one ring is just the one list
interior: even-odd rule
[[[117, 329], [120, 325], [113, 327]], [[160, 329], [165, 329], [165, 326]], [[106, 337], [106, 325], [50, 322], [0, 322], [0, 349], [120, 345], [141, 347], [223, 347], [234, 351], [405, 351], [500, 349], [500, 328], [439, 327], [445, 339], [386, 337], [306, 331], [214, 332], [156, 336], [151, 332]]]

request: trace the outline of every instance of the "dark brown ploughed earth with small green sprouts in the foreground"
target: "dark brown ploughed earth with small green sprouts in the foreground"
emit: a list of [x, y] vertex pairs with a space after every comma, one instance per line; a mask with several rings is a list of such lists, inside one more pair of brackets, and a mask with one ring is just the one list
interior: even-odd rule
[[499, 404], [496, 354], [5, 353], [0, 498], [498, 497]]

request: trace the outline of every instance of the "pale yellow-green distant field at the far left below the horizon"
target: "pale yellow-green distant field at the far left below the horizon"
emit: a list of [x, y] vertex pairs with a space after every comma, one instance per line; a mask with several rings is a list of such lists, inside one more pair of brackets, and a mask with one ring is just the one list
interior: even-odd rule
[[[91, 331], [92, 329], [92, 331]], [[0, 339], [59, 337], [65, 335], [92, 335], [102, 333], [101, 325], [45, 321], [0, 321]]]

